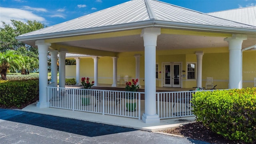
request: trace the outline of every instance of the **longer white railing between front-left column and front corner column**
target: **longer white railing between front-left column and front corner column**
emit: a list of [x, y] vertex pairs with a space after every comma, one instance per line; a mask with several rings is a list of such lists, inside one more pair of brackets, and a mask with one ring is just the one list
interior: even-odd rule
[[140, 119], [140, 94], [113, 90], [47, 87], [48, 107]]

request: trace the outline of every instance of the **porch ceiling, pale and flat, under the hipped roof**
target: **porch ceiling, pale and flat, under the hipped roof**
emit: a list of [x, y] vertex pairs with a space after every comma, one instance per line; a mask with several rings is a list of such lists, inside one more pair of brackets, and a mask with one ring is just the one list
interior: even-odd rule
[[[255, 38], [249, 38], [244, 41], [242, 48], [252, 46], [255, 42]], [[57, 42], [56, 44], [110, 52], [144, 51], [144, 42], [140, 35]], [[228, 47], [228, 42], [224, 41], [224, 37], [160, 34], [158, 36], [156, 50], [220, 47]]]

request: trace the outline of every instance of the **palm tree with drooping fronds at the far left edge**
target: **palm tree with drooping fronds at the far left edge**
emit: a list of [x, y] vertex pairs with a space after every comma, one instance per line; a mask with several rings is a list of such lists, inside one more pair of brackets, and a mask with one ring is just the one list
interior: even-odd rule
[[20, 64], [24, 62], [22, 56], [15, 54], [14, 50], [6, 50], [0, 52], [0, 73], [2, 80], [6, 80], [6, 72], [11, 69], [20, 68]]

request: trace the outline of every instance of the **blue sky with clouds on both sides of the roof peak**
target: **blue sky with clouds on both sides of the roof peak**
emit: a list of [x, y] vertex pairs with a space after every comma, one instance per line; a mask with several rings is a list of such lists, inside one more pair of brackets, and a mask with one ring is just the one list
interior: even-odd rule
[[[36, 20], [53, 26], [129, 0], [0, 0], [0, 21]], [[160, 0], [199, 12], [256, 6], [256, 0]], [[2, 27], [2, 23], [0, 24]]]

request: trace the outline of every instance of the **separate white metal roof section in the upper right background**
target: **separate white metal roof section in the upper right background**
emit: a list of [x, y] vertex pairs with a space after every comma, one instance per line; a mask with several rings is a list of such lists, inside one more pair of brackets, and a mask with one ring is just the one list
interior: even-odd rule
[[212, 16], [256, 26], [256, 6], [208, 13]]

